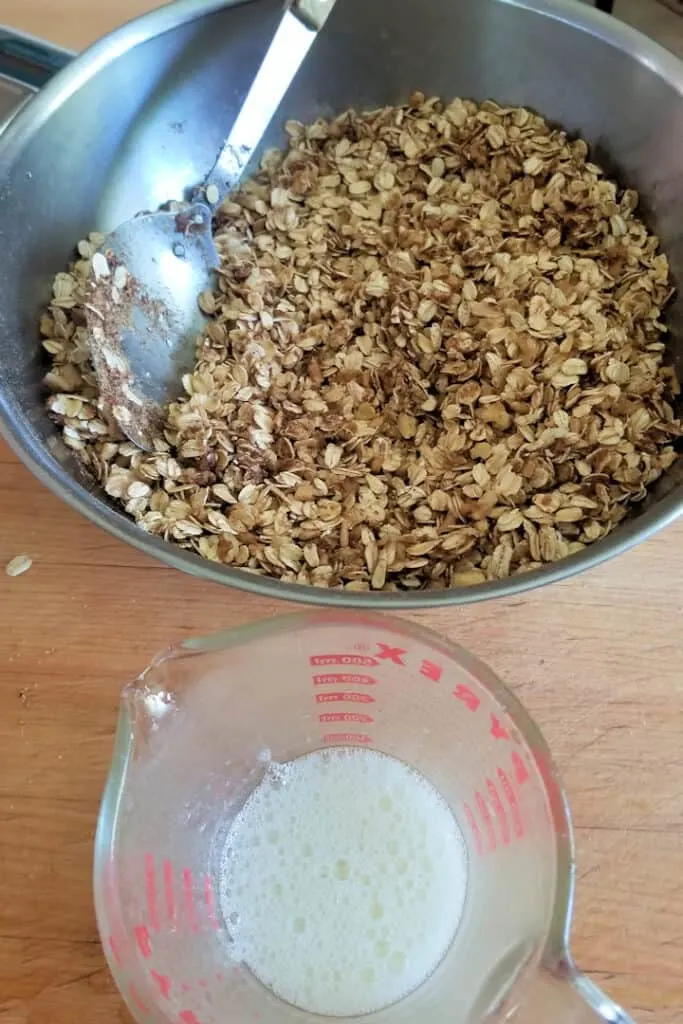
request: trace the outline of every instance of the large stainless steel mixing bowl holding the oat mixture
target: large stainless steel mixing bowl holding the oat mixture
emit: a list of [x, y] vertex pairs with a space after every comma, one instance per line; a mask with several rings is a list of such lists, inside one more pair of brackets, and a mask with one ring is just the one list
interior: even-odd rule
[[[0, 62], [11, 60], [14, 79], [28, 71], [42, 85], [65, 63], [0, 136], [0, 416], [22, 459], [93, 522], [169, 565], [316, 604], [397, 609], [510, 595], [596, 565], [671, 522], [683, 508], [681, 460], [639, 514], [561, 562], [462, 590], [359, 594], [204, 561], [145, 535], [85, 477], [43, 407], [37, 322], [51, 279], [85, 231], [179, 199], [204, 177], [280, 10], [280, 0], [179, 0], [73, 61], [8, 35], [3, 46], [0, 33]], [[395, 102], [415, 88], [531, 106], [587, 138], [639, 189], [683, 281], [683, 63], [672, 54], [574, 0], [340, 0], [276, 120]], [[266, 144], [280, 140], [276, 130]], [[680, 373], [683, 299], [670, 315]]]

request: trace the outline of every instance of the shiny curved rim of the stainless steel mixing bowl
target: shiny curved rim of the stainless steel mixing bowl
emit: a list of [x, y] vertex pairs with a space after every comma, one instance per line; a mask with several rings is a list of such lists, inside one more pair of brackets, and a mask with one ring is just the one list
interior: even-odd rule
[[[206, 14], [248, 2], [258, 0], [176, 0], [175, 3], [134, 18], [104, 36], [69, 62], [12, 118], [0, 135], [0, 166], [11, 166], [27, 141], [52, 112], [117, 57], [154, 36], [170, 32]], [[493, 2], [533, 11], [594, 35], [646, 66], [683, 96], [683, 61], [658, 43], [609, 14], [586, 4], [579, 4], [575, 0]], [[67, 52], [58, 47], [54, 47], [54, 50], [58, 50], [62, 56]], [[372, 607], [392, 611], [471, 604], [512, 597], [600, 565], [635, 544], [647, 540], [683, 512], [683, 486], [678, 484], [666, 497], [653, 502], [650, 508], [620, 524], [612, 534], [582, 552], [539, 569], [472, 587], [415, 591], [351, 591], [344, 588], [313, 587], [284, 583], [272, 577], [211, 562], [195, 552], [145, 534], [123, 512], [93, 494], [76, 477], [66, 473], [63, 466], [52, 456], [49, 445], [22, 419], [17, 419], [11, 399], [4, 394], [0, 394], [0, 434], [53, 494], [85, 515], [90, 522], [131, 544], [138, 551], [212, 583], [249, 591], [270, 600], [281, 599], [309, 605], [357, 609]]]

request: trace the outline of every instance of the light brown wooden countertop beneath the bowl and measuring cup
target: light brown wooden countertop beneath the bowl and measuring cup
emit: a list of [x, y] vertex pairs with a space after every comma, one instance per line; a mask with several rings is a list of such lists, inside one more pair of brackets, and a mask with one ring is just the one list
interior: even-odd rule
[[[78, 48], [152, 0], [24, 0], [17, 28]], [[118, 695], [171, 641], [286, 610], [164, 568], [67, 508], [0, 445], [0, 1024], [129, 1018], [92, 909]], [[519, 694], [577, 831], [573, 950], [642, 1024], [683, 1020], [683, 521], [528, 597], [414, 617]]]

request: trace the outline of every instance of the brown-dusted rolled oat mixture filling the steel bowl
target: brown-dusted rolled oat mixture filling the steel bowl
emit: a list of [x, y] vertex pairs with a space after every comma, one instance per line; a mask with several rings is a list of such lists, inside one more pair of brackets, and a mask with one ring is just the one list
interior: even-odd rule
[[351, 590], [472, 585], [604, 537], [675, 460], [667, 257], [588, 146], [411, 97], [287, 126], [227, 200], [155, 455], [97, 394], [83, 288], [42, 319], [65, 441], [142, 529]]

